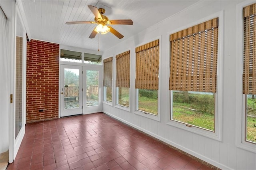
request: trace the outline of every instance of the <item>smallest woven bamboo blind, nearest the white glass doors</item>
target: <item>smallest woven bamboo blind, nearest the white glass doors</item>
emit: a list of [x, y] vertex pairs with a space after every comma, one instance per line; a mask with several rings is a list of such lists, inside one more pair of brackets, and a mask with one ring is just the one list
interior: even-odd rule
[[104, 74], [103, 74], [103, 86], [112, 87], [112, 57], [103, 60]]

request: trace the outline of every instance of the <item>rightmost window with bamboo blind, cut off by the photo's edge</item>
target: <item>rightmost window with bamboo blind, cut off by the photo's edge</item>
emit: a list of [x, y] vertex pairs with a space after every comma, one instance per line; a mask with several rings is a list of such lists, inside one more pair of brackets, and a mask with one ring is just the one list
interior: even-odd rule
[[243, 94], [244, 141], [256, 144], [256, 4], [246, 6], [244, 14]]

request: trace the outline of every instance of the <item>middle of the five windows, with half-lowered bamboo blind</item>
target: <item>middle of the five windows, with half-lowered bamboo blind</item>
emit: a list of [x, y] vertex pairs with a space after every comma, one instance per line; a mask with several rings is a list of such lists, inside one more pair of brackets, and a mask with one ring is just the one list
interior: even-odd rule
[[136, 110], [158, 115], [159, 40], [136, 47]]

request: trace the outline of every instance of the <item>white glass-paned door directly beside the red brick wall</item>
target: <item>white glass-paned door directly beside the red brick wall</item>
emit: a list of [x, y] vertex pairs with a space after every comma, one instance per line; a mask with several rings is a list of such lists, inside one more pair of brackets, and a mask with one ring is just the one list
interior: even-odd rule
[[82, 67], [60, 65], [60, 81], [60, 117], [82, 114]]

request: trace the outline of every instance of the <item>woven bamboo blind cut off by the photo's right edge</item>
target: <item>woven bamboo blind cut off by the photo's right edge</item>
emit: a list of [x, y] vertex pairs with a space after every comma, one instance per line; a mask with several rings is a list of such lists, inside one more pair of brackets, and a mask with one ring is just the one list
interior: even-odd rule
[[256, 4], [244, 7], [243, 93], [256, 94]]

